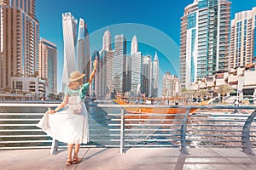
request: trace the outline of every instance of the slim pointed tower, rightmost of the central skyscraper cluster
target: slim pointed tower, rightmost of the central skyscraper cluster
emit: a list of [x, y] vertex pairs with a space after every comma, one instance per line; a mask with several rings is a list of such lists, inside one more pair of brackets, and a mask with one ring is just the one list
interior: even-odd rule
[[154, 54], [154, 60], [153, 60], [153, 63], [152, 63], [152, 67], [153, 67], [153, 75], [152, 75], [152, 78], [153, 78], [153, 97], [154, 98], [157, 98], [158, 97], [158, 81], [159, 81], [159, 60], [158, 60], [158, 56], [157, 56], [157, 53], [155, 52]]

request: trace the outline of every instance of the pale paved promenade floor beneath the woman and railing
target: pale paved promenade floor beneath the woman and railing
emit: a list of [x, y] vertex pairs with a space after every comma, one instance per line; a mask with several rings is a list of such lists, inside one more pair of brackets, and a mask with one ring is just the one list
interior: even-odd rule
[[[49, 149], [0, 150], [1, 170], [255, 170], [256, 156], [241, 149], [189, 149], [183, 155], [173, 148], [132, 148], [120, 154], [116, 148], [82, 148], [83, 161], [66, 166], [67, 150], [49, 155]], [[256, 150], [254, 150], [255, 153]]]

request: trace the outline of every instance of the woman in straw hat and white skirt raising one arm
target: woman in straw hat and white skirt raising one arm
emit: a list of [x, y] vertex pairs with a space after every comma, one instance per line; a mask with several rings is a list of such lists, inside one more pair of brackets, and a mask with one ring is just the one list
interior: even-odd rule
[[[96, 59], [93, 63], [93, 71], [90, 73], [89, 81], [83, 84], [84, 74], [73, 71], [68, 79], [69, 84], [65, 88], [65, 96], [61, 105], [55, 110], [49, 109], [38, 127], [54, 139], [67, 143], [66, 165], [76, 164], [82, 161], [79, 158], [80, 145], [89, 142], [88, 113], [83, 99], [87, 89], [96, 73]], [[68, 104], [68, 108], [60, 111]], [[57, 113], [57, 114], [55, 114]], [[74, 155], [73, 154], [74, 146]]]

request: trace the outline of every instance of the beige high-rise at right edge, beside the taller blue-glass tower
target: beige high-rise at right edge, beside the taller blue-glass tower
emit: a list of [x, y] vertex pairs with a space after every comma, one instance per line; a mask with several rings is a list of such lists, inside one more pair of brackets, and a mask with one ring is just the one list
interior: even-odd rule
[[230, 31], [230, 69], [255, 62], [255, 27], [256, 7], [235, 14]]

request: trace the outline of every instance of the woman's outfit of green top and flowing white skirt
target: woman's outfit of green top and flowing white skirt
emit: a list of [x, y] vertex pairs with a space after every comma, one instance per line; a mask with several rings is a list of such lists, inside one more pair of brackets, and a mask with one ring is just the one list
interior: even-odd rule
[[[78, 90], [65, 90], [68, 97], [73, 94], [82, 93], [82, 99], [89, 87], [89, 83], [85, 83]], [[69, 100], [68, 100], [69, 101]], [[82, 109], [79, 113], [73, 114], [67, 110], [56, 112], [54, 115], [45, 113], [37, 127], [40, 127], [53, 139], [57, 139], [67, 144], [87, 144], [89, 142], [89, 122], [88, 112], [82, 102]]]

